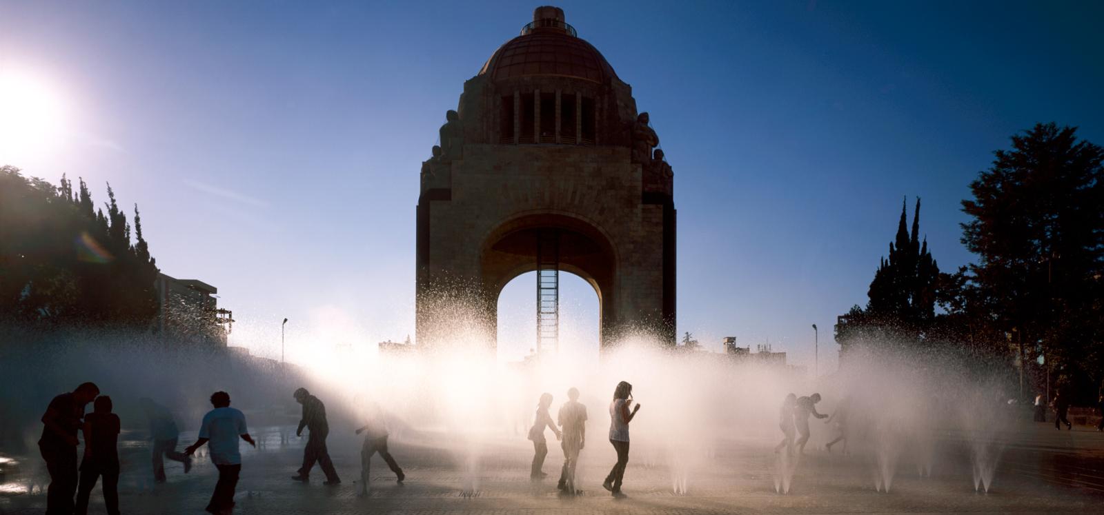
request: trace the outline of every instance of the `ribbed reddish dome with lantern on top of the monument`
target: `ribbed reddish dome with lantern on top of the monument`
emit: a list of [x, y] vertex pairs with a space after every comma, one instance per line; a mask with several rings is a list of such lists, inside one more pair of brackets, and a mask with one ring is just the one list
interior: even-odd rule
[[582, 78], [605, 83], [617, 78], [614, 68], [592, 44], [575, 35], [559, 8], [540, 7], [521, 35], [500, 46], [479, 75], [492, 81], [533, 75]]

